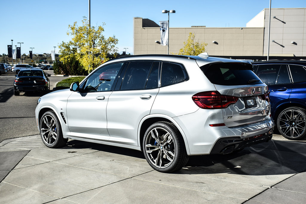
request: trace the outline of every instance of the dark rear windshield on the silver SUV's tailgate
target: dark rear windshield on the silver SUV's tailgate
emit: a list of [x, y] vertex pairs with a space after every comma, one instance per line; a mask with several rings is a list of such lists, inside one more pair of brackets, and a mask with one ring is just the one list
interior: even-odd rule
[[211, 83], [225, 86], [252, 85], [263, 83], [252, 71], [249, 63], [218, 62], [200, 67]]

